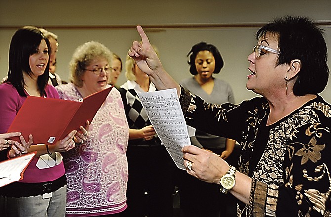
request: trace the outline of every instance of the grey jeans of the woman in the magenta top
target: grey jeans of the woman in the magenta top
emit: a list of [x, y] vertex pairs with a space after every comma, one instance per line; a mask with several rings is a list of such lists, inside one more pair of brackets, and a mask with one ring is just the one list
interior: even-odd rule
[[[52, 194], [52, 195], [51, 195]], [[65, 217], [67, 185], [52, 192], [31, 197], [0, 197], [4, 217]]]

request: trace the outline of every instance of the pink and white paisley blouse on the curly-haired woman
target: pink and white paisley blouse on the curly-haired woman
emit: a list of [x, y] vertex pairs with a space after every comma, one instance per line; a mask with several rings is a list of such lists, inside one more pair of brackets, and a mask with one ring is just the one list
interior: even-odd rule
[[[73, 84], [60, 85], [57, 90], [62, 99], [82, 99]], [[117, 89], [109, 93], [88, 134], [82, 145], [63, 156], [68, 181], [67, 216], [115, 214], [126, 207], [129, 128]]]

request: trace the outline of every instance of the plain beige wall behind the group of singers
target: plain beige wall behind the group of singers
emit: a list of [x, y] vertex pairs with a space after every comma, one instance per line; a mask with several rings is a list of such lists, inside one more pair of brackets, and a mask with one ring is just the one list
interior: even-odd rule
[[[132, 41], [139, 40], [134, 28], [73, 29], [73, 26], [256, 24], [287, 14], [309, 16], [330, 23], [331, 0], [1, 0], [0, 77], [4, 77], [8, 70], [10, 38], [17, 27], [24, 25], [47, 27], [59, 36], [57, 72], [68, 80], [68, 63], [78, 45], [88, 40], [99, 41], [125, 62]], [[322, 27], [330, 48], [331, 26]], [[216, 45], [225, 61], [224, 68], [216, 77], [231, 84], [239, 103], [256, 96], [245, 88], [245, 84], [249, 74], [247, 56], [256, 44], [254, 34], [257, 29], [161, 28], [150, 29], [148, 36], [159, 48], [165, 69], [177, 81], [190, 76], [186, 54], [193, 44], [206, 41]], [[118, 84], [125, 82], [124, 73], [125, 70]], [[331, 102], [330, 93], [329, 84], [322, 93], [328, 102]]]

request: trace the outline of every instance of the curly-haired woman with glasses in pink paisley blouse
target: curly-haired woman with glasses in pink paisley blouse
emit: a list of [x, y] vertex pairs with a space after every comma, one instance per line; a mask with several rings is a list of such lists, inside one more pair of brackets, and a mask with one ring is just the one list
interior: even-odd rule
[[[71, 83], [56, 87], [60, 98], [81, 100], [110, 87], [112, 53], [89, 41], [70, 62]], [[117, 216], [126, 209], [129, 127], [121, 95], [113, 88], [90, 123], [88, 137], [63, 155], [68, 181], [66, 216]]]

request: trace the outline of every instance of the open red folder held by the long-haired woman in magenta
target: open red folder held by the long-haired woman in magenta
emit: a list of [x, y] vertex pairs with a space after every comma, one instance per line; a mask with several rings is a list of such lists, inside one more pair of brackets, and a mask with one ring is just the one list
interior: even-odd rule
[[[21, 132], [26, 141], [32, 134], [34, 144], [55, 144], [72, 130], [85, 126], [87, 120], [91, 123], [112, 87], [83, 101], [28, 96], [8, 132]], [[20, 142], [18, 137], [13, 139]]]

